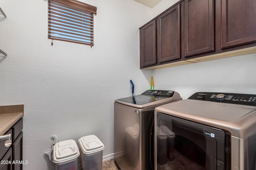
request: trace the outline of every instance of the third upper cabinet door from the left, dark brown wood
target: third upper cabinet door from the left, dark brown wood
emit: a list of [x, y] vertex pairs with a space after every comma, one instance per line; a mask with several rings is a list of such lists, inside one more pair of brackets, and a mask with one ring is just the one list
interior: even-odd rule
[[185, 0], [185, 57], [211, 51], [214, 51], [214, 0]]

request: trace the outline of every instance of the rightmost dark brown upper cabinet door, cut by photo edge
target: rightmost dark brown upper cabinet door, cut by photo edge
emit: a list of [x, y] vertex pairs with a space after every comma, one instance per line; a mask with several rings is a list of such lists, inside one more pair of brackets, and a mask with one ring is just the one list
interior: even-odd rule
[[222, 0], [222, 49], [256, 42], [256, 0]]

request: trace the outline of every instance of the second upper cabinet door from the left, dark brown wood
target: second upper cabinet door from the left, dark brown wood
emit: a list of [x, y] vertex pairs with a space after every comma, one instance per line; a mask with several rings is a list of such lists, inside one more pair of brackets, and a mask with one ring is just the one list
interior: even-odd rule
[[157, 20], [158, 63], [180, 59], [180, 4]]

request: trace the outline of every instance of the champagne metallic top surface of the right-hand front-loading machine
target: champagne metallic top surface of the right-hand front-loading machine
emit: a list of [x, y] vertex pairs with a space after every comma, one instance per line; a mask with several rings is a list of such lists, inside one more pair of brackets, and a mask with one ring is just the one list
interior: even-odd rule
[[[208, 96], [212, 97], [212, 95]], [[165, 104], [156, 107], [155, 113], [165, 113], [188, 121], [217, 127], [232, 136], [240, 138], [256, 133], [256, 106], [254, 106], [254, 103], [249, 102], [250, 105], [241, 104], [245, 100], [243, 99], [243, 101], [237, 100], [237, 104], [234, 104], [235, 101], [232, 98], [218, 100], [215, 97], [209, 100], [205, 96], [198, 99], [189, 98]], [[252, 98], [254, 97], [252, 96]], [[246, 98], [247, 102], [248, 99]]]

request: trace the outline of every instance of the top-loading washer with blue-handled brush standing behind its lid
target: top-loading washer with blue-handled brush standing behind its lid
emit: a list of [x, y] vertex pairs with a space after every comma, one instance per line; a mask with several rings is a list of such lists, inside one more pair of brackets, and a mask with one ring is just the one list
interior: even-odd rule
[[146, 90], [114, 102], [114, 160], [121, 170], [154, 169], [154, 109], [181, 100], [171, 90]]

